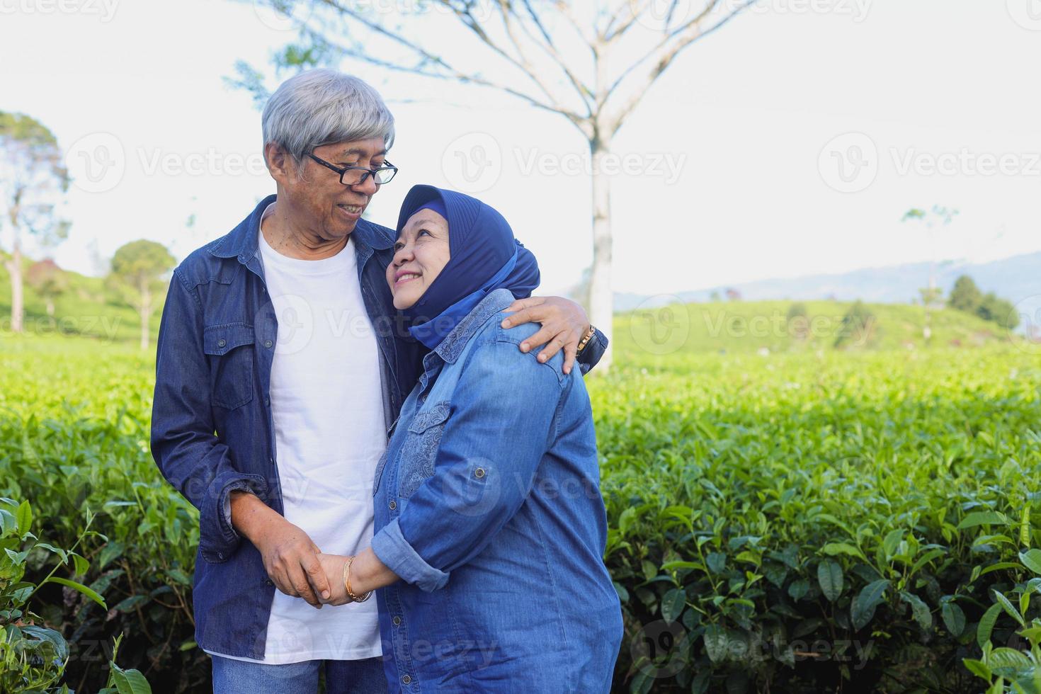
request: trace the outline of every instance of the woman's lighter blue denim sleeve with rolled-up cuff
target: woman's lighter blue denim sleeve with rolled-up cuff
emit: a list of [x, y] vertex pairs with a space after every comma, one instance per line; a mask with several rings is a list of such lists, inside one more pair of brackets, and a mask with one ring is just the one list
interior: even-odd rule
[[476, 348], [456, 386], [460, 396], [433, 474], [373, 538], [380, 561], [433, 591], [491, 542], [531, 492], [567, 378], [559, 363], [540, 364], [513, 342]]

